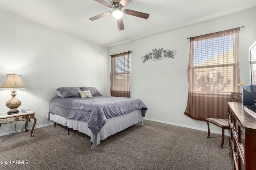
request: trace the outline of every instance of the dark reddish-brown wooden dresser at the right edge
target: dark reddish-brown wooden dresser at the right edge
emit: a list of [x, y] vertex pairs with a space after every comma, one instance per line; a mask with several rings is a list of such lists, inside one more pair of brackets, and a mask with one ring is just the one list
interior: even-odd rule
[[244, 106], [228, 102], [229, 153], [234, 170], [256, 170], [256, 116]]

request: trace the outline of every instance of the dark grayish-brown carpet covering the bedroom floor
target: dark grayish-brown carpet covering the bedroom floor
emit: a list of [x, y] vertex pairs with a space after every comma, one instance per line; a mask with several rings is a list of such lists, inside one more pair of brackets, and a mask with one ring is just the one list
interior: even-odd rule
[[144, 120], [100, 142], [62, 125], [0, 137], [1, 170], [231, 170], [228, 137]]

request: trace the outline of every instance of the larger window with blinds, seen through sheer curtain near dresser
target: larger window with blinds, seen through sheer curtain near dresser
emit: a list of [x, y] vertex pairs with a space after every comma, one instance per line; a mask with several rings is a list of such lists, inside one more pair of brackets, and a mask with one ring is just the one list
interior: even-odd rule
[[[235, 36], [223, 35], [193, 41], [193, 92], [231, 93], [236, 91]], [[235, 89], [234, 89], [235, 88]]]

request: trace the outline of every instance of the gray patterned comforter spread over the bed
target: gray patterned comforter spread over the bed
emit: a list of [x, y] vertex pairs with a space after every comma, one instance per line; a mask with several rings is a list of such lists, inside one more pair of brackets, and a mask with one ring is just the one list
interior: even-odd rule
[[[95, 135], [105, 125], [107, 119], [136, 109], [142, 109], [145, 116], [147, 107], [135, 98], [94, 96], [92, 98], [61, 98], [55, 97], [50, 101], [49, 113], [54, 113], [66, 119], [75, 119], [88, 123], [88, 128]], [[48, 120], [49, 120], [48, 115]]]

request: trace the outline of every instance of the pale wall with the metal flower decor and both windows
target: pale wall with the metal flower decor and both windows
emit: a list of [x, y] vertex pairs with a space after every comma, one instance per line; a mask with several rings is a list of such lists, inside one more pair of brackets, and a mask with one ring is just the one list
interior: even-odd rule
[[[206, 122], [195, 121], [184, 115], [188, 96], [187, 66], [190, 50], [190, 40], [187, 37], [242, 25], [245, 27], [239, 32], [240, 79], [250, 84], [248, 48], [256, 40], [256, 8], [110, 47], [109, 55], [132, 51], [131, 97], [140, 98], [146, 104], [148, 107], [146, 119], [206, 131]], [[176, 50], [177, 54], [174, 59], [163, 58], [160, 61], [149, 60], [142, 63], [141, 57], [155, 48]], [[108, 73], [110, 73], [110, 57]], [[167, 114], [163, 113], [163, 109], [167, 109]], [[211, 130], [221, 132], [221, 129], [214, 125]]]

